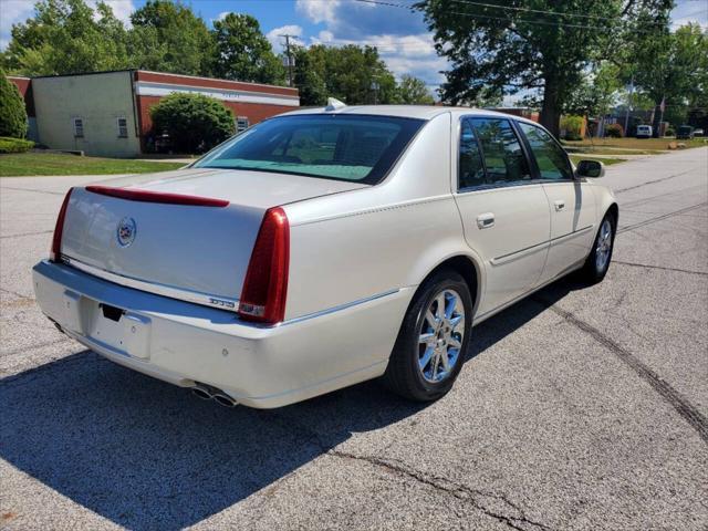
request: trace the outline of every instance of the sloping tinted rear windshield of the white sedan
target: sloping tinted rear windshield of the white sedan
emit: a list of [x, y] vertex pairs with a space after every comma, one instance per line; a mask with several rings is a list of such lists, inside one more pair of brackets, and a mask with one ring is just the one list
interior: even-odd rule
[[389, 116], [282, 116], [247, 129], [196, 168], [305, 175], [375, 185], [425, 122]]

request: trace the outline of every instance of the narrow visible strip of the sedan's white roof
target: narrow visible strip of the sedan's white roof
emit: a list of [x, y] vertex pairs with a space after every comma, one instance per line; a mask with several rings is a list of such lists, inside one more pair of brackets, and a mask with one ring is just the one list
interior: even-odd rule
[[[344, 105], [342, 107], [327, 111], [326, 107], [306, 107], [280, 116], [293, 116], [305, 114], [362, 114], [374, 116], [393, 116], [402, 118], [433, 119], [441, 114], [454, 114], [457, 116], [479, 115], [479, 116], [502, 116], [514, 118], [521, 122], [531, 122], [522, 116], [517, 116], [497, 111], [477, 107], [446, 107], [441, 105]], [[532, 122], [535, 123], [535, 122]]]

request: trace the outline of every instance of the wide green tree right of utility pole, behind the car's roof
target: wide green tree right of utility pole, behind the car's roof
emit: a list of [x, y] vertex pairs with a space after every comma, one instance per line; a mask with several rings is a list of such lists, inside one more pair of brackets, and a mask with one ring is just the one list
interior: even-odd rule
[[348, 105], [398, 103], [396, 80], [372, 46], [298, 50], [295, 82], [302, 105], [322, 105], [327, 96]]

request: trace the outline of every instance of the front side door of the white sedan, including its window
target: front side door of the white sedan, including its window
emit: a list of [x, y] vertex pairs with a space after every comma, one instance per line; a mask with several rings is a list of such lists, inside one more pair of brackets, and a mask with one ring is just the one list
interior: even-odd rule
[[575, 179], [565, 150], [543, 127], [518, 122], [551, 207], [551, 242], [542, 282], [585, 260], [595, 236], [595, 196]]

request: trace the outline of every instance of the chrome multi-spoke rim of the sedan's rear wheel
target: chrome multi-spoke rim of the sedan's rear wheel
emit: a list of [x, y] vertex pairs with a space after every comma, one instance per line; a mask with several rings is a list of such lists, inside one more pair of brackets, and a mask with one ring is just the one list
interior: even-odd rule
[[437, 384], [452, 372], [462, 348], [465, 305], [455, 290], [442, 290], [430, 302], [418, 340], [418, 369]]

